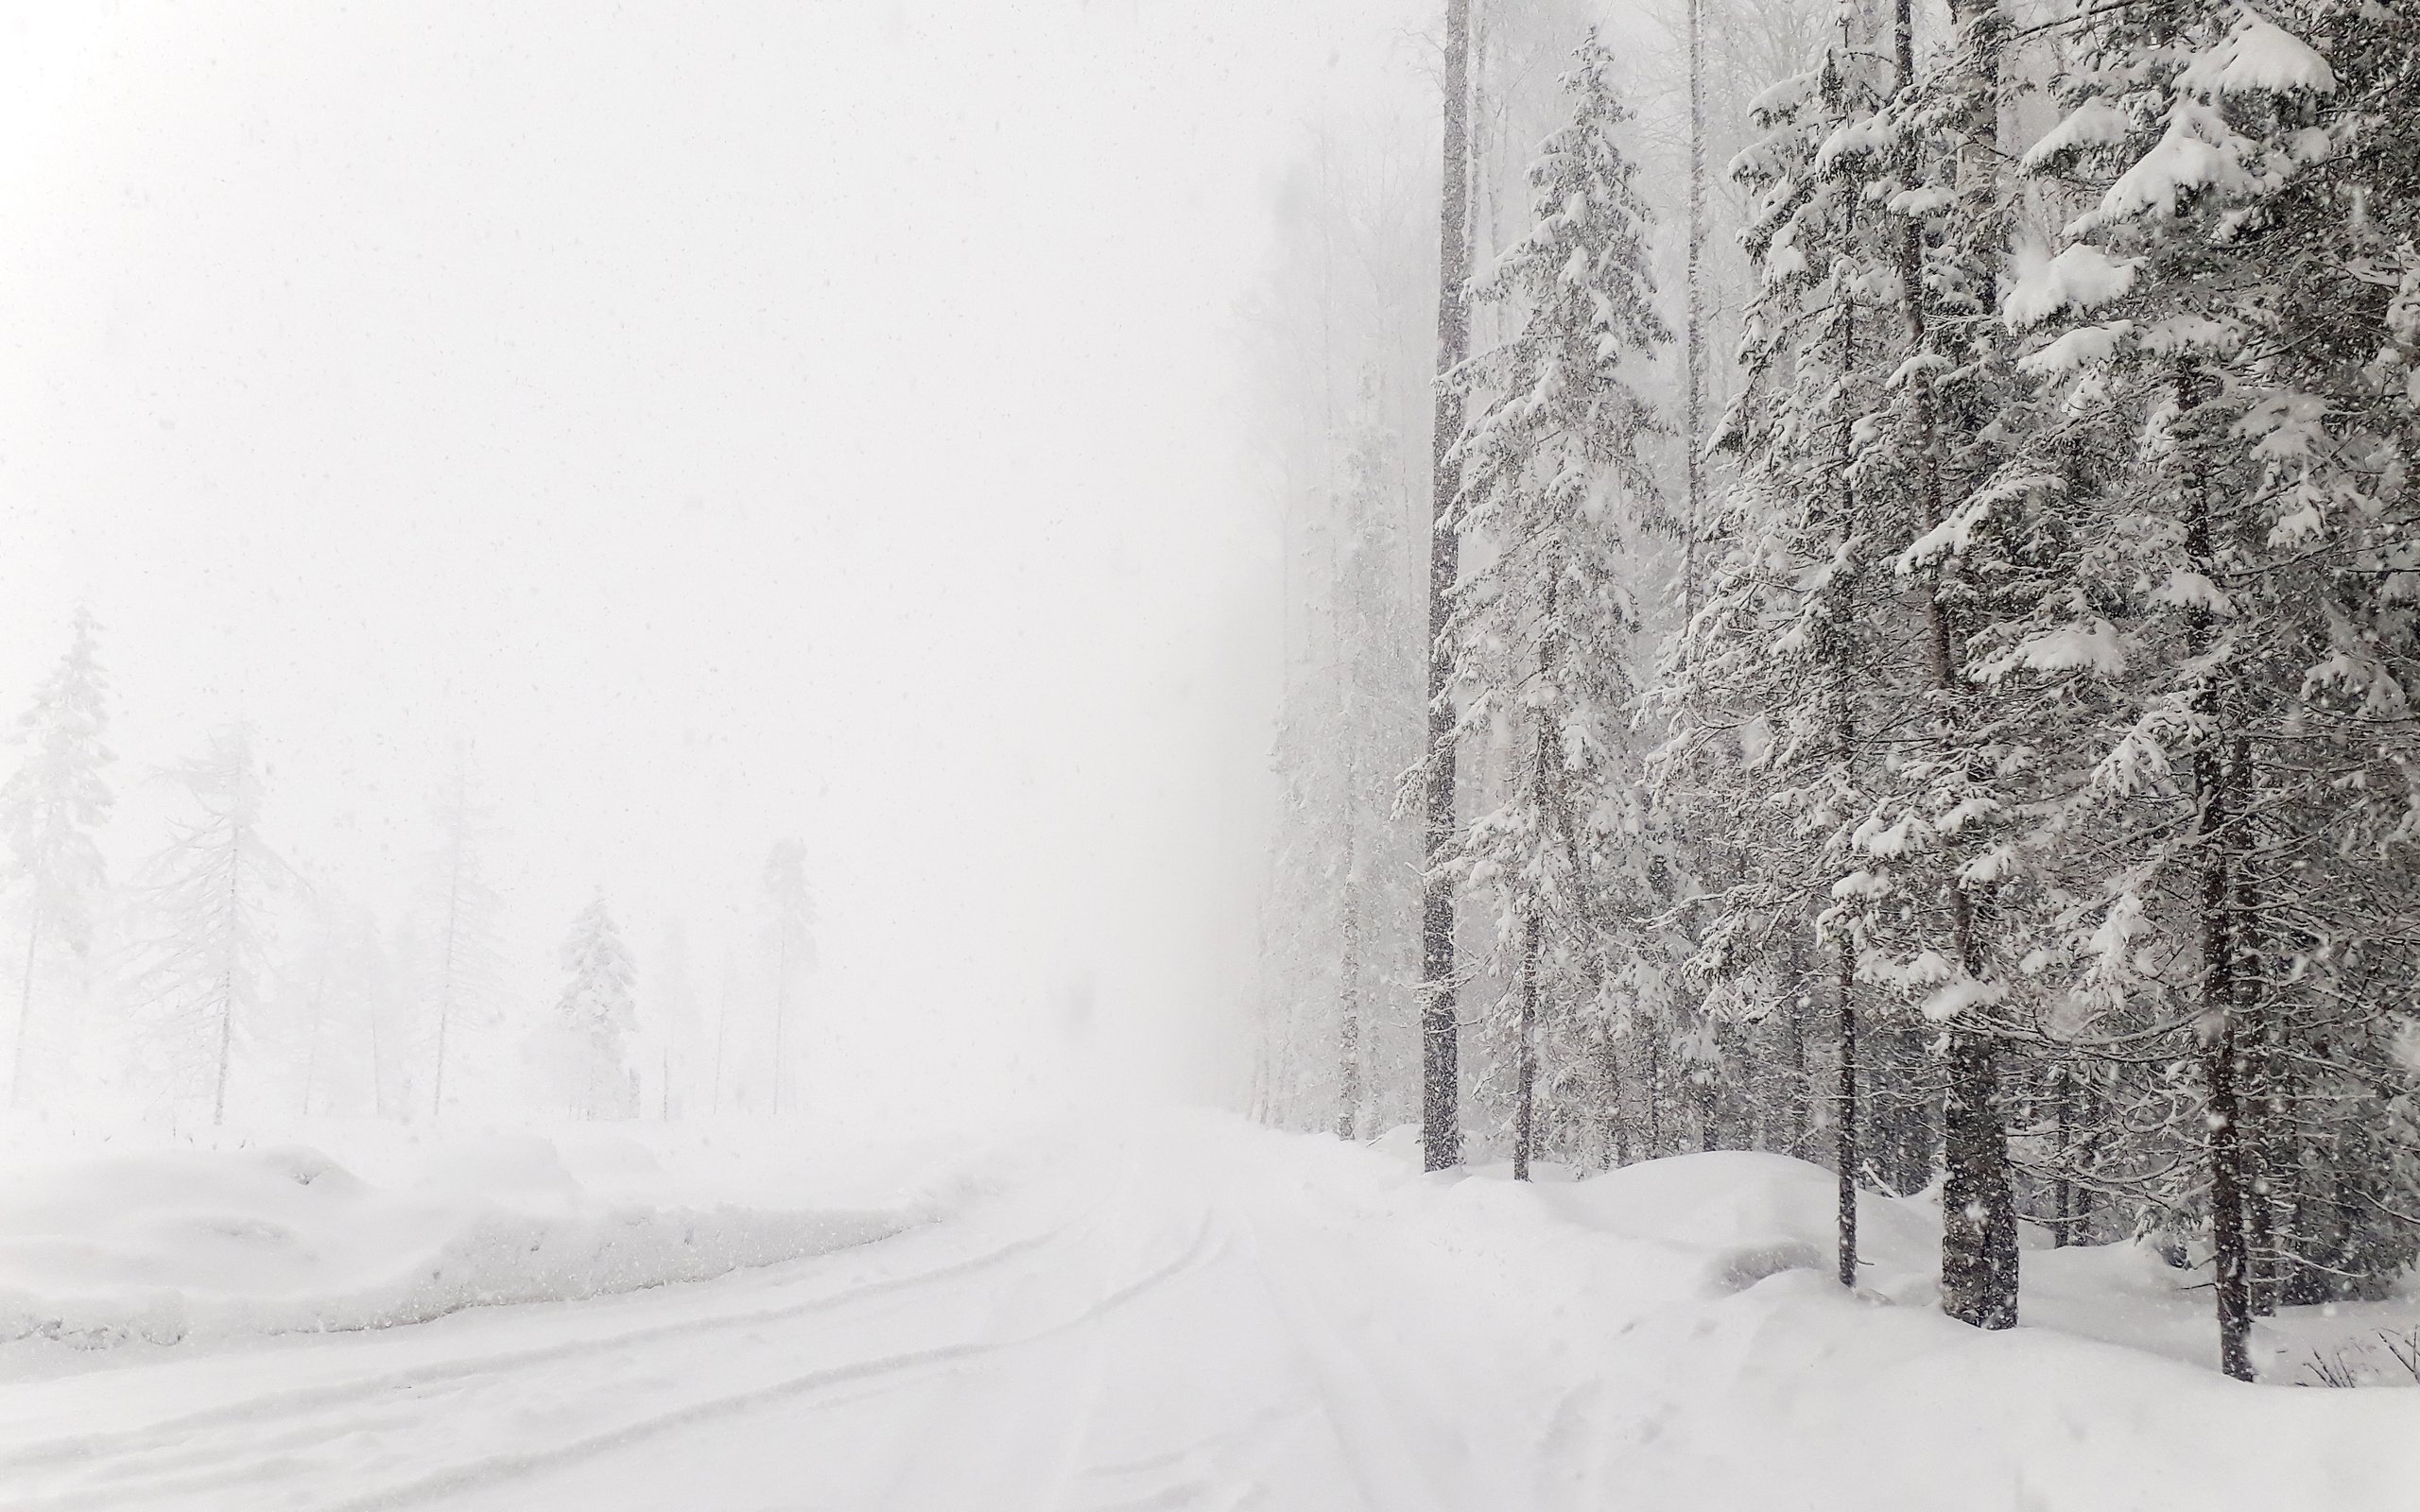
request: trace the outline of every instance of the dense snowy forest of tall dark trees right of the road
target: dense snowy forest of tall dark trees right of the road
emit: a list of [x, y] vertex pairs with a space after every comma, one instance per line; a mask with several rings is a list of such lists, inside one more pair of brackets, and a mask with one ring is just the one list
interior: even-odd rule
[[2248, 1379], [2420, 1258], [2420, 24], [1679, 10], [1300, 169], [1254, 1106], [1931, 1193], [1980, 1328], [2154, 1241]]

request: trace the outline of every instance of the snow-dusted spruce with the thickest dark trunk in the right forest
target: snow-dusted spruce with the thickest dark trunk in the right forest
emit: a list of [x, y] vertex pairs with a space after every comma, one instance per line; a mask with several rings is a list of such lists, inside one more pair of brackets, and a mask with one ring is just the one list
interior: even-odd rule
[[1951, 39], [1917, 75], [1914, 7], [1892, 17], [1897, 92], [1832, 157], [1871, 157], [1876, 208], [1900, 227], [1897, 404], [1856, 460], [1863, 530], [1902, 588], [1917, 687], [1873, 738], [1851, 832], [1863, 948], [1859, 977], [1938, 1026], [1943, 1062], [1941, 1302], [1982, 1328], [2016, 1321], [2016, 1193], [2001, 1052], [2028, 1031], [2011, 1004], [2026, 956], [2013, 876], [2023, 791], [2038, 781], [2030, 704], [1980, 677], [1972, 646], [1994, 617], [2001, 561], [2033, 547], [2030, 489], [2004, 479], [2023, 385], [1996, 314], [2009, 256], [2011, 172], [1999, 143], [2011, 19], [1994, 0], [1951, 5]]

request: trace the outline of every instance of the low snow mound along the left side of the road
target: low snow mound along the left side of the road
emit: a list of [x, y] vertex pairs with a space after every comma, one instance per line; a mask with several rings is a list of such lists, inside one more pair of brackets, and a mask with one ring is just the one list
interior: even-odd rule
[[707, 1280], [908, 1222], [603, 1200], [537, 1137], [440, 1147], [414, 1185], [373, 1185], [310, 1147], [85, 1156], [0, 1183], [0, 1343], [387, 1328]]

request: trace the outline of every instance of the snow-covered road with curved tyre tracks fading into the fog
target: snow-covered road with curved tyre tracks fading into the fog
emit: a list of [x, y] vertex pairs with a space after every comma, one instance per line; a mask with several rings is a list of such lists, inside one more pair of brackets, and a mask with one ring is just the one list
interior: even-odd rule
[[716, 1285], [12, 1384], [0, 1505], [1481, 1505], [1307, 1188], [1070, 1154]]

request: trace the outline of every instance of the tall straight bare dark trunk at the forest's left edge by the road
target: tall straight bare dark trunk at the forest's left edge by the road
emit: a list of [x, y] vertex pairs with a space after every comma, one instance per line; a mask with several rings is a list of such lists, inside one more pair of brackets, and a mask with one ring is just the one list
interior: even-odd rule
[[[1437, 218], [1437, 377], [1462, 365], [1471, 339], [1464, 298], [1471, 261], [1471, 145], [1469, 145], [1471, 0], [1445, 0], [1445, 174]], [[1440, 864], [1454, 842], [1454, 711], [1447, 704], [1445, 622], [1454, 578], [1462, 571], [1462, 537], [1454, 532], [1454, 464], [1447, 460], [1462, 435], [1462, 397], [1437, 385], [1430, 435], [1430, 537], [1428, 537], [1428, 764], [1425, 856], [1421, 881], [1421, 1166], [1442, 1171], [1462, 1164], [1462, 1026], [1454, 1002], [1454, 890]]]

